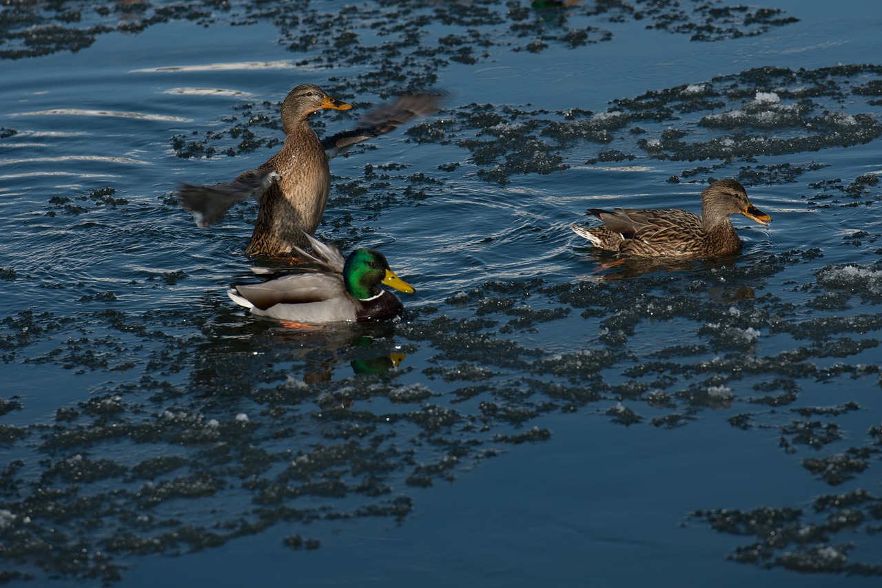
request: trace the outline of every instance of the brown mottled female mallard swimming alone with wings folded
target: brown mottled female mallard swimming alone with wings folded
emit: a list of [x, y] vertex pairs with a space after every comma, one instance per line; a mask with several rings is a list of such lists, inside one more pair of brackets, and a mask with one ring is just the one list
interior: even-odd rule
[[602, 220], [599, 227], [572, 224], [570, 228], [594, 247], [616, 251], [622, 257], [714, 257], [736, 253], [741, 240], [729, 220], [744, 214], [760, 225], [772, 222], [751, 205], [741, 182], [719, 180], [701, 192], [701, 216], [676, 209], [613, 212], [590, 208], [586, 214]]

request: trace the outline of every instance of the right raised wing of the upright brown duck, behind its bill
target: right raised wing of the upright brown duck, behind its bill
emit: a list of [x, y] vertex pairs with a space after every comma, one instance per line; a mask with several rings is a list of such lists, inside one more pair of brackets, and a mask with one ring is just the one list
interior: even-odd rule
[[446, 96], [443, 91], [403, 94], [398, 100], [371, 110], [355, 129], [322, 139], [325, 154], [331, 159], [352, 145], [385, 135], [420, 116], [432, 115]]

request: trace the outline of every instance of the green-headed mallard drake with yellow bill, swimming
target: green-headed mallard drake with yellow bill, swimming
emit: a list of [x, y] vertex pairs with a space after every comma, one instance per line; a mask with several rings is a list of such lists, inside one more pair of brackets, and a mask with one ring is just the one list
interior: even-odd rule
[[312, 247], [296, 253], [318, 266], [312, 273], [255, 268], [268, 278], [261, 284], [233, 285], [227, 291], [251, 314], [271, 316], [295, 324], [363, 322], [398, 315], [404, 309], [398, 296], [379, 288], [380, 284], [413, 294], [414, 288], [389, 268], [376, 249], [355, 249], [343, 260], [340, 249], [306, 235]]

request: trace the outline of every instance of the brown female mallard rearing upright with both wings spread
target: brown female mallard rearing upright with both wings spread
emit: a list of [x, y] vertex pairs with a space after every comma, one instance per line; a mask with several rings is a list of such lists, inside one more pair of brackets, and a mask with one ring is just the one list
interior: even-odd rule
[[379, 137], [415, 116], [437, 111], [443, 93], [401, 96], [392, 104], [374, 109], [354, 130], [322, 141], [310, 129], [310, 115], [322, 108], [348, 110], [351, 104], [332, 98], [314, 84], [296, 86], [281, 105], [285, 145], [257, 169], [243, 172], [232, 182], [213, 186], [183, 183], [180, 202], [192, 212], [199, 227], [220, 221], [229, 207], [254, 197], [260, 206], [254, 232], [245, 252], [252, 256], [288, 256], [306, 244], [325, 212], [331, 173], [328, 157], [348, 147]]

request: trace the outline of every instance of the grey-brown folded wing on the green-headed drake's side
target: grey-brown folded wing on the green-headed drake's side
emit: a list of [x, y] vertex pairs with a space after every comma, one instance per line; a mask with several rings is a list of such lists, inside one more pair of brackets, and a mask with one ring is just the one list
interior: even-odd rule
[[344, 296], [343, 279], [323, 273], [291, 274], [262, 284], [234, 284], [227, 291], [236, 303], [266, 310], [278, 304], [309, 304]]

